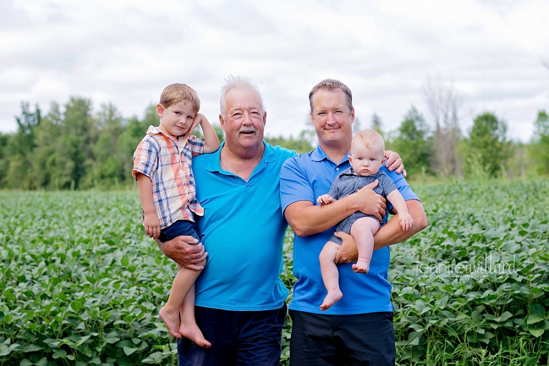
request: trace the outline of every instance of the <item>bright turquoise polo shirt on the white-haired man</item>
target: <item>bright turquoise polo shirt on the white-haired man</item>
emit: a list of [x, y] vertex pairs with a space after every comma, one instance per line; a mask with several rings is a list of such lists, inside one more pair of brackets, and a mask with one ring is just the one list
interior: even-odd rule
[[196, 198], [204, 207], [197, 220], [208, 252], [196, 280], [196, 305], [222, 310], [274, 310], [288, 297], [283, 269], [284, 220], [279, 193], [284, 161], [292, 150], [270, 146], [248, 181], [220, 167], [220, 152], [193, 159]]

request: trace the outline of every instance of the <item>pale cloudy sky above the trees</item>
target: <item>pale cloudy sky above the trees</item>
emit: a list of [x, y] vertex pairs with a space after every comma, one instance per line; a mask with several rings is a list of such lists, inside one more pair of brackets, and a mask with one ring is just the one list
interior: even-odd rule
[[337, 78], [362, 126], [377, 113], [395, 129], [412, 104], [432, 122], [434, 80], [460, 95], [463, 131], [491, 111], [528, 141], [549, 110], [547, 19], [547, 0], [0, 0], [0, 131], [21, 101], [48, 111], [71, 95], [142, 117], [172, 82], [215, 122], [232, 73], [258, 85], [270, 136], [297, 135], [310, 89]]

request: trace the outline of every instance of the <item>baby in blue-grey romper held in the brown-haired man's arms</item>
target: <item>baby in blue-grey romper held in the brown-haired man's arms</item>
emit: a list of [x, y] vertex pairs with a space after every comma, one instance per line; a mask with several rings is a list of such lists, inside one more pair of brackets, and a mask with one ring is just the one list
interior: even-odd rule
[[[385, 143], [383, 137], [375, 130], [361, 130], [353, 137], [351, 142], [351, 155], [349, 163], [351, 168], [339, 174], [332, 183], [330, 192], [317, 198], [321, 205], [328, 205], [339, 198], [349, 196], [377, 180], [374, 192], [384, 196], [398, 212], [400, 225], [404, 231], [412, 228], [412, 216], [408, 214], [408, 208], [404, 198], [397, 190], [393, 180], [385, 172], [379, 172], [384, 162]], [[381, 227], [381, 223], [375, 216], [355, 212], [342, 220], [336, 226], [336, 231], [350, 233], [356, 242], [358, 249], [358, 261], [353, 264], [356, 273], [368, 273], [373, 252], [373, 235]], [[320, 252], [320, 271], [328, 295], [320, 305], [320, 310], [327, 310], [341, 299], [343, 294], [339, 288], [339, 273], [334, 260], [342, 240], [332, 235]]]

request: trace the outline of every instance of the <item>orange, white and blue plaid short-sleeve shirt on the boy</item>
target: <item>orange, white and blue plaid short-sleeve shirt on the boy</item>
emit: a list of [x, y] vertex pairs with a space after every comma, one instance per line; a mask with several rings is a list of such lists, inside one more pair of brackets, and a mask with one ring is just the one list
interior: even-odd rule
[[[204, 152], [204, 139], [190, 136], [173, 139], [150, 126], [133, 155], [132, 176], [145, 174], [152, 181], [152, 201], [161, 229], [177, 220], [194, 221], [204, 209], [195, 198], [192, 158]], [[142, 219], [145, 216], [142, 215]]]

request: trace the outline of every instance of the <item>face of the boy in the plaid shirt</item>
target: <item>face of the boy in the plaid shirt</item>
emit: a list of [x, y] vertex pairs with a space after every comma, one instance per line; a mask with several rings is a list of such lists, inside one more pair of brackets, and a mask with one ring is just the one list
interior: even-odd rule
[[160, 116], [159, 129], [172, 137], [185, 135], [191, 128], [196, 115], [191, 103], [184, 100], [167, 108], [162, 104], [158, 104], [156, 105], [156, 113]]

